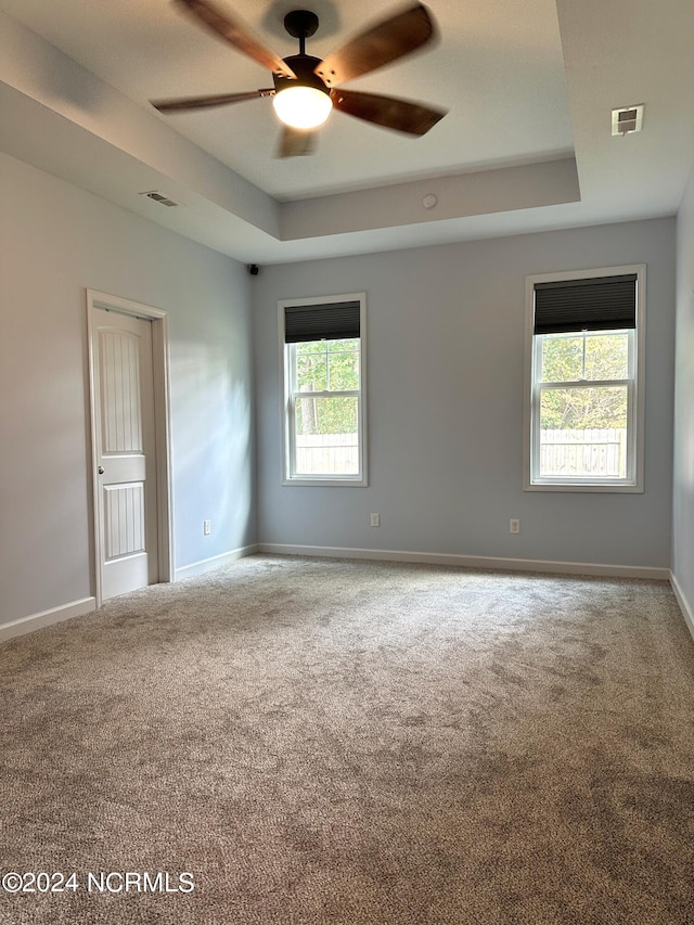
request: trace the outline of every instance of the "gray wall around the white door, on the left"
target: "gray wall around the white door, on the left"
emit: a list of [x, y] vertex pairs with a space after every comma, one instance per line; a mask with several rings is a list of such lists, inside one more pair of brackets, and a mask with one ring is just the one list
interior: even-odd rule
[[176, 565], [253, 543], [245, 267], [5, 155], [0, 202], [0, 625], [93, 594], [87, 287], [169, 312]]

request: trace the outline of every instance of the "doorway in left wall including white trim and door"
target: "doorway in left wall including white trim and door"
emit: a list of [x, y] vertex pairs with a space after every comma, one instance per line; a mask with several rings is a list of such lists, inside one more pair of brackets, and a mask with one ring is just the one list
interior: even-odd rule
[[167, 313], [87, 291], [94, 596], [174, 578]]

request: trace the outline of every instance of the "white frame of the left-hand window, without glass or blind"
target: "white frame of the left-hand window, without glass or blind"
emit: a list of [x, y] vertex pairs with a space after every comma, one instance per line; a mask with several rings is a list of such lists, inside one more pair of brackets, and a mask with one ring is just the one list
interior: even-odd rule
[[[314, 305], [317, 308], [345, 301], [359, 303], [359, 390], [342, 393], [316, 393], [320, 396], [340, 395], [356, 396], [357, 401], [357, 435], [359, 440], [359, 472], [354, 475], [303, 475], [295, 472], [295, 427], [294, 427], [294, 383], [293, 383], [293, 356], [294, 345], [284, 343], [285, 309], [288, 307], [308, 307]], [[281, 299], [278, 303], [279, 338], [280, 338], [280, 372], [283, 383], [282, 389], [282, 485], [304, 486], [352, 486], [365, 487], [367, 475], [367, 294], [347, 293], [333, 296], [318, 296], [313, 298]], [[309, 394], [303, 394], [309, 395]], [[311, 393], [312, 395], [312, 393]]]

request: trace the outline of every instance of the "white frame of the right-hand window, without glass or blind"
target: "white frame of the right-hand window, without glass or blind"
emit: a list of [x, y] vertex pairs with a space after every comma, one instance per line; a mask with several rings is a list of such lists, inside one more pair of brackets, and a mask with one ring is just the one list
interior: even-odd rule
[[[539, 397], [536, 385], [539, 370], [539, 344], [535, 331], [535, 285], [536, 283], [563, 282], [566, 280], [587, 280], [599, 277], [618, 277], [629, 273], [637, 275], [637, 326], [629, 338], [629, 420], [627, 423], [627, 476], [624, 479], [581, 479], [581, 478], [541, 478], [539, 471]], [[624, 267], [603, 267], [595, 270], [574, 270], [562, 273], [542, 273], [526, 277], [525, 287], [525, 382], [524, 382], [524, 465], [523, 481], [525, 491], [578, 491], [578, 492], [643, 492], [644, 459], [644, 358], [645, 358], [645, 264], [632, 264]], [[582, 385], [583, 383], [581, 383]], [[591, 386], [618, 385], [619, 381], [591, 382]], [[563, 383], [564, 386], [576, 383]]]

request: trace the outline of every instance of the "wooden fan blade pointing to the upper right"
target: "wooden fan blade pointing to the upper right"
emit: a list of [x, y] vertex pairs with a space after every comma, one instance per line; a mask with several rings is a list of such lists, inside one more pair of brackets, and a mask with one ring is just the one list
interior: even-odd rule
[[345, 83], [421, 48], [435, 34], [426, 7], [417, 3], [403, 13], [361, 33], [327, 55], [316, 68], [327, 87]]

